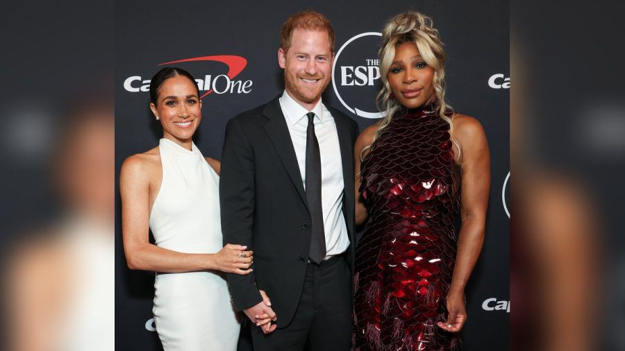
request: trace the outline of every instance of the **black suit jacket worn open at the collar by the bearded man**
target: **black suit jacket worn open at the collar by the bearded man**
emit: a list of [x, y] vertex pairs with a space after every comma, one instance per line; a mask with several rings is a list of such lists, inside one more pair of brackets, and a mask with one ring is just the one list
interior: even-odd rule
[[[278, 327], [284, 327], [297, 309], [306, 275], [310, 213], [278, 97], [228, 121], [219, 199], [224, 244], [247, 245], [254, 251], [252, 273], [227, 275], [235, 309], [247, 309], [262, 301], [258, 289], [263, 289], [272, 300]], [[340, 144], [343, 214], [351, 242], [346, 259], [353, 273], [353, 144], [358, 125], [339, 110], [328, 110]]]

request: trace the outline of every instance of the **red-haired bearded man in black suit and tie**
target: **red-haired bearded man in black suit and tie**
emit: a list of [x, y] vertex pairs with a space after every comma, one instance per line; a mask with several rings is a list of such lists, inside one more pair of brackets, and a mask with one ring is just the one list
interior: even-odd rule
[[253, 272], [228, 275], [228, 285], [235, 308], [260, 324], [251, 327], [256, 351], [349, 350], [351, 343], [358, 125], [322, 103], [334, 53], [324, 15], [290, 17], [278, 49], [285, 92], [226, 126], [224, 243], [254, 252]]

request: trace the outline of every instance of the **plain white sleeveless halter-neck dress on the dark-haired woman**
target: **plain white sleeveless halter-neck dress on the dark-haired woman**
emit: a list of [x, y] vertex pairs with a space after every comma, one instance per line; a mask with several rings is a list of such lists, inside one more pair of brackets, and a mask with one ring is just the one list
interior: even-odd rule
[[[219, 176], [195, 144], [158, 146], [163, 181], [150, 214], [156, 245], [187, 253], [223, 247]], [[217, 271], [157, 273], [153, 314], [165, 351], [236, 350], [240, 324], [224, 275]]]

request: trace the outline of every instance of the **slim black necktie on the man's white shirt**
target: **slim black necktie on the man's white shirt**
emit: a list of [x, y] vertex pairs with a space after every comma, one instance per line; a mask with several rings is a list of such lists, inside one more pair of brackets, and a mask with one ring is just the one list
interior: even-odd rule
[[315, 135], [315, 113], [308, 112], [306, 129], [306, 200], [310, 210], [312, 233], [310, 235], [310, 259], [319, 264], [326, 257], [326, 235], [321, 198], [321, 154]]

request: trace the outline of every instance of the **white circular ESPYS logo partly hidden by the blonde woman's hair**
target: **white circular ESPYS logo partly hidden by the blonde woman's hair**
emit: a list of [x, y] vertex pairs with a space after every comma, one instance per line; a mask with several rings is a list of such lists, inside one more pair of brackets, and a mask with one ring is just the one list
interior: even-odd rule
[[[376, 108], [376, 95], [380, 91], [380, 68], [376, 48], [382, 34], [361, 33], [337, 51], [332, 65], [332, 87], [347, 110], [360, 117], [383, 117]], [[366, 53], [366, 54], [363, 54]]]

